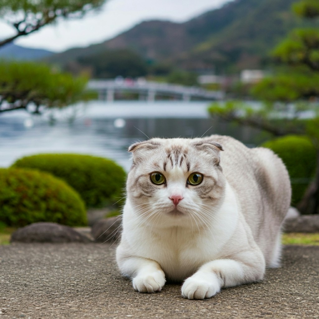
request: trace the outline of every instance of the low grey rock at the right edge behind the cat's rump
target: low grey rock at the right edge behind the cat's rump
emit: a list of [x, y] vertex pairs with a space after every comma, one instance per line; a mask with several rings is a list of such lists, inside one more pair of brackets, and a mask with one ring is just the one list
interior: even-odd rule
[[319, 215], [300, 215], [297, 218], [286, 219], [285, 233], [317, 233], [319, 232]]

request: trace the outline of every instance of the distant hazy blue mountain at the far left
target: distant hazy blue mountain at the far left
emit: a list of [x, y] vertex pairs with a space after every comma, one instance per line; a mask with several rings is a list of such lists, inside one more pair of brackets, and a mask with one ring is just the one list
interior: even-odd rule
[[43, 49], [25, 48], [8, 43], [0, 48], [0, 58], [10, 60], [40, 60], [53, 55], [53, 52]]

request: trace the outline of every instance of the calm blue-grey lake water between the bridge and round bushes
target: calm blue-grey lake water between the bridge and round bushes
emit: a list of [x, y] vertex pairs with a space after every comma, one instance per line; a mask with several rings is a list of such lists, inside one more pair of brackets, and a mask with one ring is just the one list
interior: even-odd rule
[[[231, 135], [248, 146], [267, 139], [256, 129], [210, 118], [209, 102], [91, 101], [42, 115], [0, 114], [0, 167], [38, 153], [80, 153], [114, 159], [126, 171], [129, 145], [147, 137]], [[146, 137], [147, 136], [147, 137]]]

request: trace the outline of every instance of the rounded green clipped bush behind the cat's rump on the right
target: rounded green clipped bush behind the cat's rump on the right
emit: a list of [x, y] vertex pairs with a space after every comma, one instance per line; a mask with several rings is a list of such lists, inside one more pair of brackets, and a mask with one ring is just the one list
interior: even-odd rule
[[296, 205], [315, 172], [314, 145], [308, 137], [287, 135], [267, 141], [262, 146], [273, 150], [285, 163], [293, 190], [292, 205]]

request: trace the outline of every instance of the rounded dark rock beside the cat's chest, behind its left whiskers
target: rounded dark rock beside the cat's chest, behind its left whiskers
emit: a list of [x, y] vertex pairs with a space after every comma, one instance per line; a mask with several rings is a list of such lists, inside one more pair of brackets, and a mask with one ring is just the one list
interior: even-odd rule
[[91, 230], [92, 237], [99, 242], [116, 241], [122, 232], [122, 216], [100, 219]]

